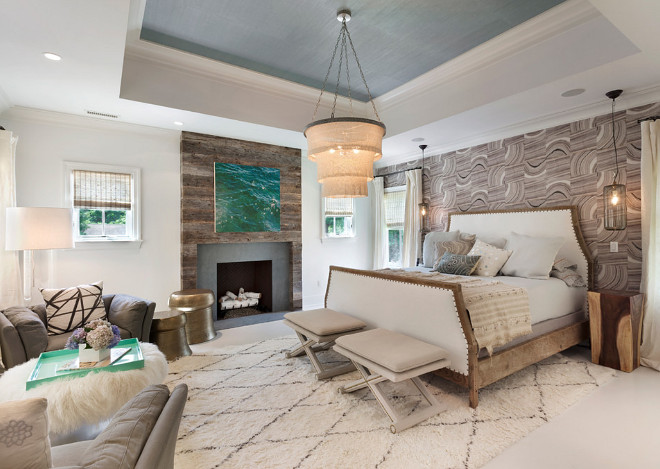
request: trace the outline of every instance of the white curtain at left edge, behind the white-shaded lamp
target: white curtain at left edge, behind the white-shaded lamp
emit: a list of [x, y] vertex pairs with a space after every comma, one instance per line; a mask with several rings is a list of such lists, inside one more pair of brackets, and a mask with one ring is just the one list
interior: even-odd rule
[[5, 250], [7, 207], [16, 206], [14, 155], [18, 137], [0, 130], [0, 310], [23, 304], [18, 251]]

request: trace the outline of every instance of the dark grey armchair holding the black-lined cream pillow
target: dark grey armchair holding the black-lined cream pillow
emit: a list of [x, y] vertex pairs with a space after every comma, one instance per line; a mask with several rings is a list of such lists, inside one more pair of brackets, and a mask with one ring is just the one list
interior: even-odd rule
[[[156, 303], [130, 295], [103, 295], [107, 319], [119, 328], [122, 339], [149, 341]], [[46, 306], [12, 306], [0, 311], [0, 353], [6, 369], [64, 348], [71, 334], [48, 335]]]

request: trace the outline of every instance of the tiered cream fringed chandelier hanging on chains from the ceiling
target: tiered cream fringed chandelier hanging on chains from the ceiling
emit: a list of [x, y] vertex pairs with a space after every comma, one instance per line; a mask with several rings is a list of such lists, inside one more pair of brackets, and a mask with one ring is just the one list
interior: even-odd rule
[[304, 135], [307, 138], [307, 154], [311, 161], [317, 163], [317, 180], [322, 184], [321, 195], [323, 197], [367, 197], [369, 195], [367, 183], [374, 178], [373, 164], [382, 157], [383, 153], [385, 124], [380, 122], [380, 120], [360, 117], [335, 117], [342, 63], [346, 66], [346, 81], [348, 82], [348, 98], [351, 104], [351, 113], [353, 109], [351, 82], [348, 75], [348, 46], [350, 45], [353, 57], [360, 71], [360, 76], [367, 89], [374, 114], [377, 119], [380, 119], [371, 92], [369, 91], [369, 86], [364, 78], [360, 61], [357, 58], [351, 35], [346, 27], [346, 22], [351, 19], [350, 11], [338, 11], [337, 19], [341, 21], [341, 30], [335, 44], [332, 59], [330, 60], [328, 72], [323, 82], [321, 95], [316, 103], [314, 118], [319, 109], [321, 97], [325, 91], [337, 51], [339, 51], [337, 84], [332, 112], [329, 119], [314, 120], [305, 127]]

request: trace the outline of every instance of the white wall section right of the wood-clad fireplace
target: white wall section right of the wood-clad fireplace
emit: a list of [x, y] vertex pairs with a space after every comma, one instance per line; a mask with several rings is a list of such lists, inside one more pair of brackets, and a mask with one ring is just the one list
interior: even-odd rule
[[316, 163], [309, 161], [303, 150], [303, 309], [323, 306], [331, 265], [371, 268], [373, 224], [370, 202], [366, 197], [355, 199], [354, 238], [321, 239], [321, 185], [316, 181]]

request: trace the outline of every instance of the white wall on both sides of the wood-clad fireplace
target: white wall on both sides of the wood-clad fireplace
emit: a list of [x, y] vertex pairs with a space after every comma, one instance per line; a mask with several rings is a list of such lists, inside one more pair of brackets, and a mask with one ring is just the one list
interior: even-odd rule
[[[0, 125], [19, 137], [19, 206], [64, 206], [63, 161], [137, 166], [142, 176], [142, 238], [136, 247], [106, 244], [35, 253], [37, 287], [103, 280], [104, 291], [148, 298], [167, 308], [180, 289], [180, 133], [37, 110], [12, 109]], [[371, 267], [370, 201], [356, 199], [356, 236], [321, 239], [316, 163], [302, 156], [303, 307], [323, 304], [330, 265]], [[32, 303], [41, 302], [38, 290]]]

